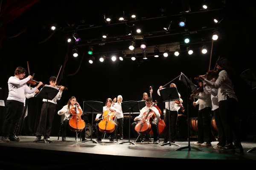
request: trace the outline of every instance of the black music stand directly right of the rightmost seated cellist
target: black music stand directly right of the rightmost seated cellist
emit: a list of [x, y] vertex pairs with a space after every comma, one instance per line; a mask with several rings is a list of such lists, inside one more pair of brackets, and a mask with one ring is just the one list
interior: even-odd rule
[[168, 102], [169, 103], [169, 143], [164, 143], [164, 144], [160, 144], [160, 146], [164, 146], [169, 144], [169, 146], [171, 146], [172, 144], [175, 146], [179, 146], [178, 144], [172, 143], [171, 142], [171, 128], [170, 128], [170, 101], [175, 101], [175, 100], [179, 100], [180, 96], [178, 94], [177, 88], [176, 87], [172, 87], [172, 88], [163, 88], [160, 91], [160, 96], [162, 97], [163, 102]]

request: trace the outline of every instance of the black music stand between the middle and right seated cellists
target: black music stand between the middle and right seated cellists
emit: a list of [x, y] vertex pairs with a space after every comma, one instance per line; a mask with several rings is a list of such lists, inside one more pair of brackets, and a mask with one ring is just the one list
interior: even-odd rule
[[127, 101], [127, 102], [122, 102], [122, 112], [123, 113], [129, 113], [129, 140], [125, 142], [121, 142], [119, 144], [124, 144], [124, 143], [130, 143], [130, 144], [135, 144], [134, 142], [130, 141], [130, 135], [131, 135], [131, 112], [134, 113], [140, 113], [140, 108], [139, 104], [137, 101]]

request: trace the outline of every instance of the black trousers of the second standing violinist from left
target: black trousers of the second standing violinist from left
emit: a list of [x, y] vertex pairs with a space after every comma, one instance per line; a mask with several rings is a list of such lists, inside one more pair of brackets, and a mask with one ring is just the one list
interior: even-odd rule
[[[35, 133], [35, 136], [42, 136], [44, 125], [45, 125], [45, 117], [46, 117], [46, 106], [47, 102], [44, 102], [41, 109], [41, 115], [39, 120], [38, 129]], [[52, 130], [52, 120], [54, 117], [56, 105], [54, 103], [48, 102], [48, 109], [47, 109], [47, 120], [46, 120], [46, 133], [45, 137], [49, 138]]]

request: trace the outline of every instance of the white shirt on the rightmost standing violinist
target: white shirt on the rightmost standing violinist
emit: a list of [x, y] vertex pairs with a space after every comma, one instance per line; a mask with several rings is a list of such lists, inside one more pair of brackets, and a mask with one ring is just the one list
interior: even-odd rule
[[216, 82], [210, 82], [207, 79], [204, 79], [204, 82], [206, 82], [208, 86], [218, 89], [218, 101], [226, 100], [227, 95], [238, 101], [233, 89], [232, 81], [227, 75], [227, 71], [222, 70], [219, 72]]

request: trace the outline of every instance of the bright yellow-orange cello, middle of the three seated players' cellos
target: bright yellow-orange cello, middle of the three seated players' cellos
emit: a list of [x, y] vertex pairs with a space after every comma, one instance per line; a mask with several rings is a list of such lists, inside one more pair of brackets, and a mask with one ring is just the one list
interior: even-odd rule
[[114, 119], [116, 117], [115, 111], [109, 109], [103, 112], [102, 120], [99, 122], [99, 131], [102, 133], [111, 133], [115, 130]]

